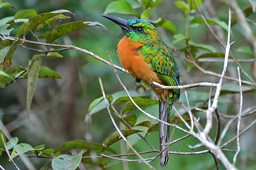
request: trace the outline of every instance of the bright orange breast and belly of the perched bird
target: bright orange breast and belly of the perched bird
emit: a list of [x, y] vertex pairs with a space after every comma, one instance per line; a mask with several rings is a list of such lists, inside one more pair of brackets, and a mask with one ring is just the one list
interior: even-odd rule
[[[122, 66], [132, 74], [133, 78], [139, 78], [147, 85], [152, 81], [162, 84], [150, 64], [144, 60], [143, 53], [139, 52], [139, 48], [142, 45], [143, 44], [132, 42], [132, 40], [128, 38], [121, 39], [117, 45], [117, 54]], [[152, 89], [159, 99], [165, 101], [168, 90], [160, 89], [156, 86], [152, 87]]]

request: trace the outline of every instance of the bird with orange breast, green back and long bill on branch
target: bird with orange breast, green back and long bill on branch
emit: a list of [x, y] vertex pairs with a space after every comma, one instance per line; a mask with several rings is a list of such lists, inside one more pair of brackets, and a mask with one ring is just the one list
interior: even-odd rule
[[[153, 89], [159, 99], [159, 119], [169, 122], [173, 103], [180, 97], [180, 89], [161, 89], [161, 85], [180, 85], [180, 75], [176, 59], [156, 27], [147, 20], [124, 20], [116, 16], [102, 15], [119, 25], [122, 38], [117, 45], [117, 55], [124, 69], [135, 81], [142, 80]], [[159, 121], [160, 165], [165, 167], [169, 161], [169, 125]]]

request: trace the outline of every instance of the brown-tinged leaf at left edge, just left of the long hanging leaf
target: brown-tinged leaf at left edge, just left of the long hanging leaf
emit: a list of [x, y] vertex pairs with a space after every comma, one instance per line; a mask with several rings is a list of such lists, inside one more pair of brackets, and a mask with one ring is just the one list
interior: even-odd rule
[[13, 63], [13, 54], [18, 45], [20, 45], [20, 40], [17, 40], [16, 42], [13, 42], [11, 46], [0, 50], [0, 70], [10, 67], [10, 65]]

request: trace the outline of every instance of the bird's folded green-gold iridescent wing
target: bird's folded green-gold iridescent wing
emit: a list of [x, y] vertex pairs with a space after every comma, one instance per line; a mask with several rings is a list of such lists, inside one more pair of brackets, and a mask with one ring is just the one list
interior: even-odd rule
[[[158, 78], [165, 85], [180, 85], [178, 66], [173, 52], [165, 46], [156, 48], [153, 45], [144, 45], [142, 52], [145, 61], [151, 65], [153, 71], [158, 73]], [[173, 92], [180, 96], [180, 89], [173, 89]]]

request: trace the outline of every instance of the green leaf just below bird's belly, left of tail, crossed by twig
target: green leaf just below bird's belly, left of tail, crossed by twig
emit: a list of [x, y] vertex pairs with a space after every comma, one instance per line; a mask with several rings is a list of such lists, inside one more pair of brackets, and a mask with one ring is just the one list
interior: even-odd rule
[[[158, 99], [138, 99], [135, 100], [135, 103], [139, 107], [147, 107], [158, 103]], [[128, 111], [134, 110], [136, 107], [132, 102], [127, 103], [122, 111], [122, 114], [127, 113]]]

